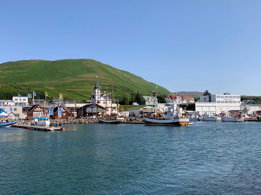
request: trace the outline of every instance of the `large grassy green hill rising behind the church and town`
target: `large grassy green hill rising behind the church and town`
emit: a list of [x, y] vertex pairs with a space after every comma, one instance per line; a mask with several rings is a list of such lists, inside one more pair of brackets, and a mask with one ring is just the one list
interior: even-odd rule
[[[108, 82], [108, 92], [111, 92], [113, 77], [114, 97], [122, 97], [123, 94], [131, 97], [137, 91], [142, 95], [152, 95], [152, 91], [156, 90], [155, 83], [95, 60], [22, 60], [0, 64], [0, 94], [20, 93], [23, 96], [35, 91], [43, 96], [46, 91], [49, 98], [58, 98], [62, 93], [68, 100], [77, 100], [77, 97], [90, 100], [96, 76], [101, 91], [106, 90]], [[157, 93], [170, 94], [161, 86], [158, 86]], [[3, 98], [0, 96], [0, 99]]]

